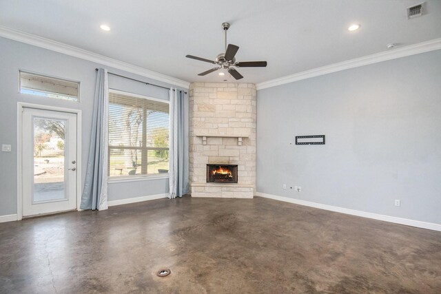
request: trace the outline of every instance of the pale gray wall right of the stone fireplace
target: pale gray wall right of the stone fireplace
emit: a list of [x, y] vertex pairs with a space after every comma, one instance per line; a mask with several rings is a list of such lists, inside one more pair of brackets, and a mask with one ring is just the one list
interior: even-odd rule
[[257, 122], [258, 192], [441, 223], [441, 50], [260, 90]]

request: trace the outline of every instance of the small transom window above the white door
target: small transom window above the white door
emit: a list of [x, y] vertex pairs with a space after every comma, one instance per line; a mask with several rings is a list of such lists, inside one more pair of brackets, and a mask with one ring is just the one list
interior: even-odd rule
[[79, 83], [30, 72], [19, 72], [20, 93], [79, 101]]

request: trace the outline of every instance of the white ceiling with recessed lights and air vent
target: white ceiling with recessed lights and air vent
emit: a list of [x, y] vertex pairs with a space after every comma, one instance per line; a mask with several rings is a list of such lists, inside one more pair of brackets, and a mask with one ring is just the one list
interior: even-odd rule
[[[183, 81], [235, 81], [213, 73], [223, 52], [220, 24], [232, 24], [228, 43], [238, 61], [268, 61], [240, 68], [241, 82], [260, 83], [316, 67], [441, 37], [441, 1], [407, 19], [420, 0], [0, 0], [0, 25], [132, 63]], [[106, 23], [112, 30], [104, 32]], [[349, 32], [352, 23], [361, 28]], [[399, 48], [399, 47], [398, 47]]]

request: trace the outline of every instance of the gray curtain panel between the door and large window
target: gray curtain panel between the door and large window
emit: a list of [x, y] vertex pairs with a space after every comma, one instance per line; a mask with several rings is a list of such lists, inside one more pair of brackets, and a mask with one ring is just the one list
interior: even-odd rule
[[107, 209], [107, 70], [96, 72], [92, 132], [81, 209]]

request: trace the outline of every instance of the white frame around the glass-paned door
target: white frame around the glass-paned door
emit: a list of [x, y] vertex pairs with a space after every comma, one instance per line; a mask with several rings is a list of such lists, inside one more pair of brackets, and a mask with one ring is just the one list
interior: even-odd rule
[[17, 220], [23, 218], [23, 168], [22, 168], [22, 136], [23, 136], [23, 108], [34, 108], [42, 110], [52, 110], [55, 112], [68, 112], [76, 114], [76, 210], [80, 211], [81, 204], [81, 110], [64, 107], [54, 107], [48, 105], [40, 105], [33, 103], [17, 103]]

